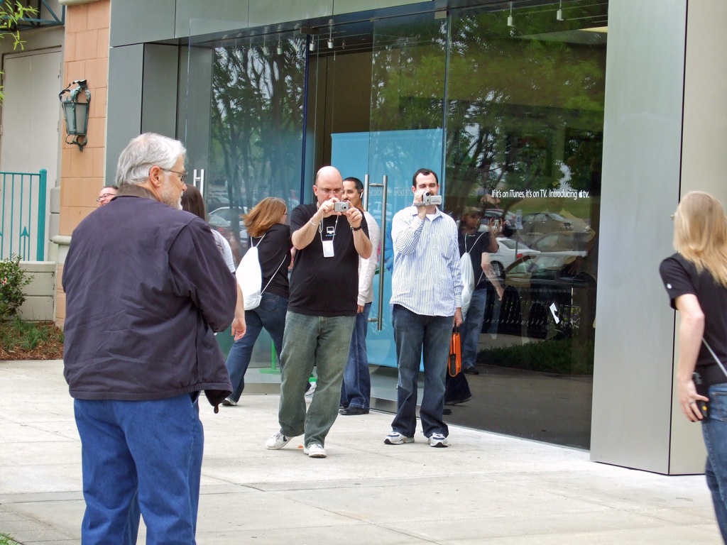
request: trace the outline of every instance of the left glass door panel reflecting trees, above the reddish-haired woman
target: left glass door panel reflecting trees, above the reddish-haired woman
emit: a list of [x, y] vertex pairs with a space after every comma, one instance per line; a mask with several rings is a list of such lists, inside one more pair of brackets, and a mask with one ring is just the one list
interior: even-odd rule
[[[190, 36], [235, 24], [245, 27], [192, 20]], [[182, 49], [177, 131], [188, 149], [188, 183], [204, 195], [210, 227], [239, 262], [249, 246], [249, 209], [268, 196], [289, 209], [300, 203], [307, 49], [300, 33], [210, 36]], [[225, 352], [233, 342], [227, 332], [217, 340]], [[277, 368], [270, 349], [263, 331], [250, 366]]]

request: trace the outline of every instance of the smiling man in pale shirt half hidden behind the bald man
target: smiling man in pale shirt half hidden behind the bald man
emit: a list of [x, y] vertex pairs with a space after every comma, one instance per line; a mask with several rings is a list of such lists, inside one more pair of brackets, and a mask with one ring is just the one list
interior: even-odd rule
[[343, 200], [364, 213], [366, 225], [369, 227], [371, 240], [371, 257], [358, 258], [358, 302], [356, 308], [356, 326], [351, 336], [348, 362], [343, 371], [341, 384], [341, 409], [343, 416], [369, 413], [371, 405], [371, 376], [369, 375], [369, 358], [366, 355], [366, 332], [369, 331], [369, 312], [374, 300], [374, 273], [376, 273], [377, 249], [379, 248], [379, 225], [368, 211], [364, 210], [361, 197], [364, 195], [364, 184], [355, 177], [343, 180]]

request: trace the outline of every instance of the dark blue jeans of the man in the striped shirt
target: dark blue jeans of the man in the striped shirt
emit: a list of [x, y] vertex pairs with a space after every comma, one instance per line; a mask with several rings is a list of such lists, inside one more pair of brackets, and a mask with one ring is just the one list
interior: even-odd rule
[[442, 420], [444, 379], [449, 358], [453, 316], [422, 316], [395, 304], [392, 311], [396, 361], [396, 416], [391, 422], [395, 432], [414, 437], [417, 431], [417, 381], [424, 353], [424, 395], [419, 408], [424, 435], [449, 435]]

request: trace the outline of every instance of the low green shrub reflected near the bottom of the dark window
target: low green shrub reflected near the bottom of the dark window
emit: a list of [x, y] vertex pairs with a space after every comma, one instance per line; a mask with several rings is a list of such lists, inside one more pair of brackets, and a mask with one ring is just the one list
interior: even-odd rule
[[593, 375], [593, 341], [551, 339], [482, 350], [478, 359], [489, 366], [560, 375]]

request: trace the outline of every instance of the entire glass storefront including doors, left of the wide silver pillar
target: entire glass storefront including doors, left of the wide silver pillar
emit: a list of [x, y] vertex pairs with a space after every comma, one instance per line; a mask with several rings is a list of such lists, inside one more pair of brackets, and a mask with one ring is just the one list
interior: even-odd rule
[[[188, 148], [206, 161], [210, 222], [241, 251], [246, 210], [268, 195], [310, 202], [324, 164], [379, 184], [369, 211], [382, 223], [411, 202], [417, 168], [438, 171], [444, 211], [459, 221], [475, 207], [481, 230], [502, 227], [490, 260], [504, 294], [486, 288], [481, 376], [448, 421], [587, 448], [608, 1], [476, 4], [201, 44], [212, 89], [189, 94], [205, 97], [210, 121], [185, 121]], [[382, 330], [367, 337], [385, 400], [390, 257], [374, 283]], [[253, 361], [270, 365], [269, 350]]]

